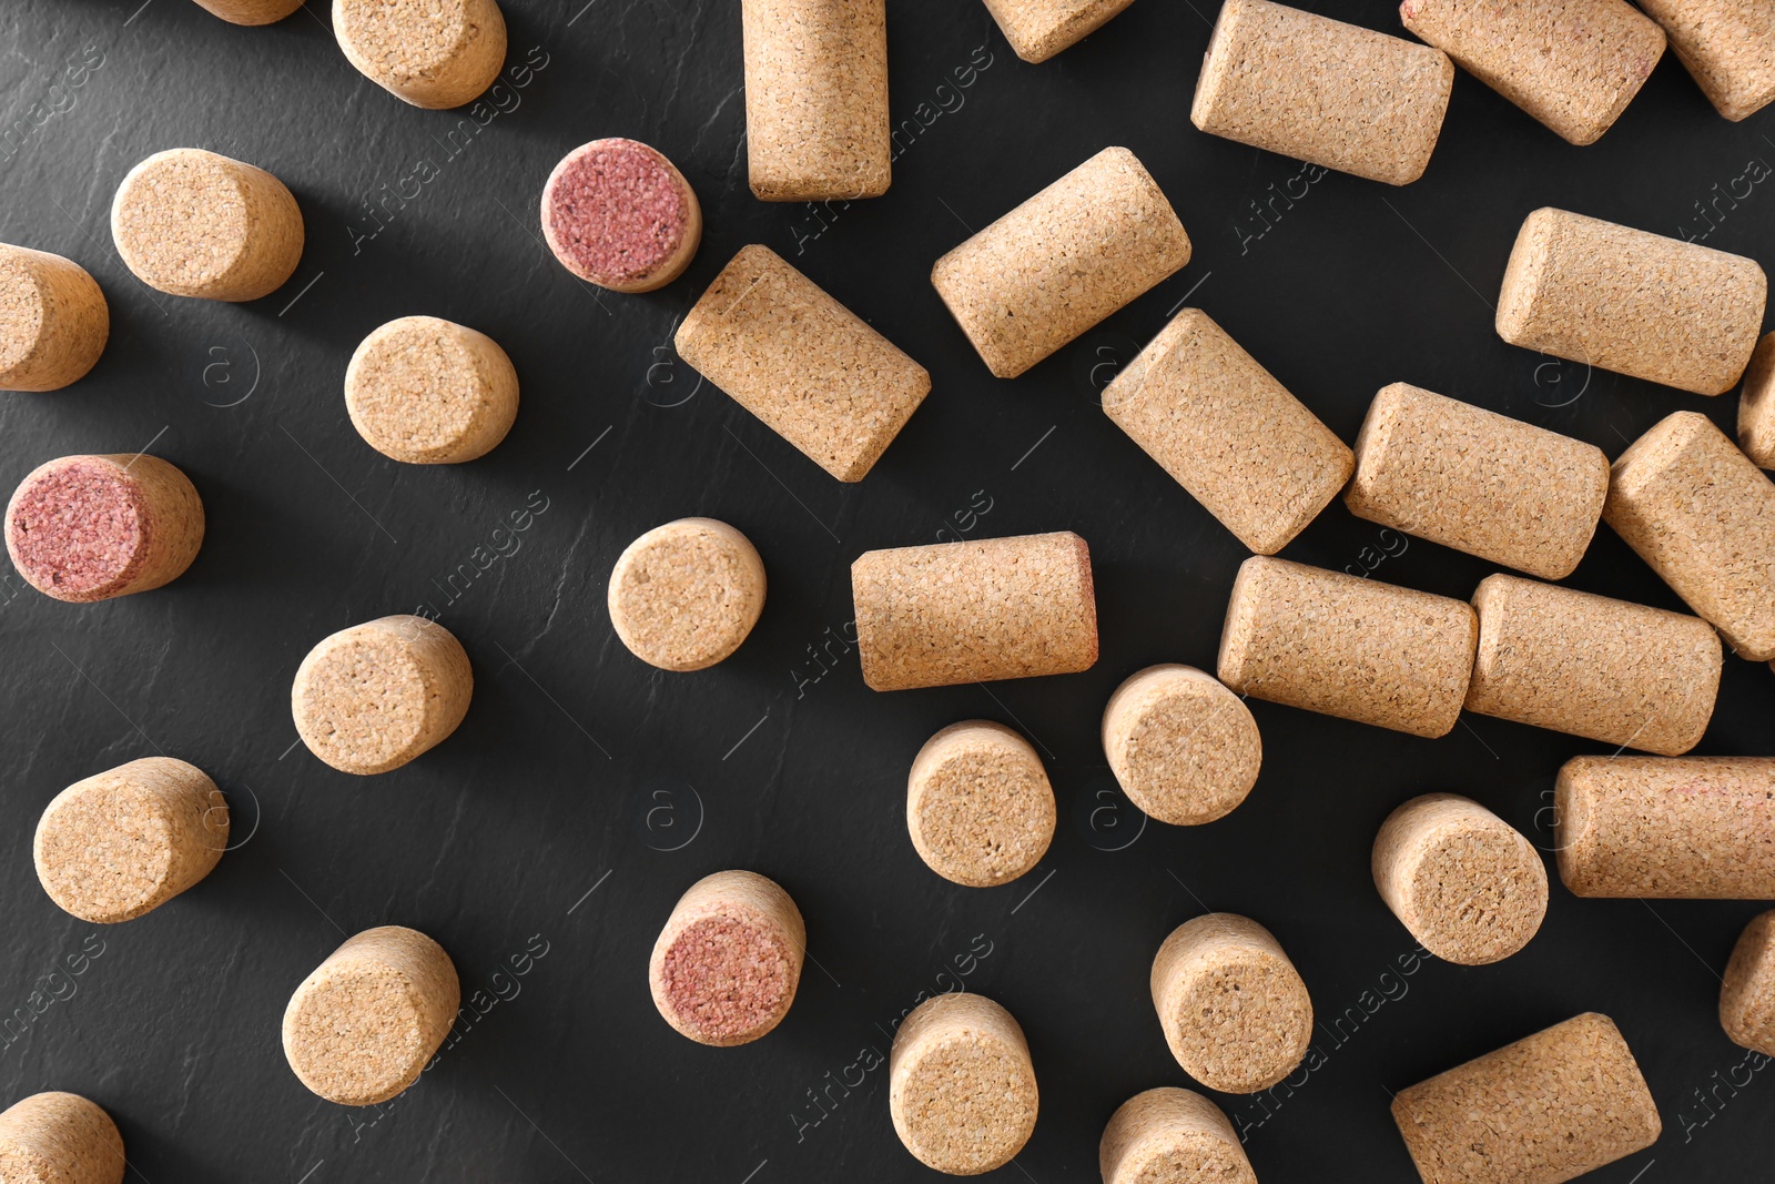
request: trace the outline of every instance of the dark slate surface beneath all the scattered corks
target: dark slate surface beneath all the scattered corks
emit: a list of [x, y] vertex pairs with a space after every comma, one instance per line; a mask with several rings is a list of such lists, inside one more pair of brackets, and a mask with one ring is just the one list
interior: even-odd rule
[[[1587, 1008], [1621, 1022], [1665, 1118], [1653, 1150], [1594, 1179], [1768, 1179], [1775, 1074], [1754, 1072], [1715, 1019], [1718, 971], [1755, 904], [1582, 902], [1555, 882], [1521, 955], [1479, 969], [1406, 957], [1415, 973], [1400, 971], [1413, 941], [1369, 879], [1381, 818], [1456, 790], [1550, 847], [1555, 770], [1606, 747], [1484, 717], [1431, 742], [1253, 701], [1267, 753], [1251, 799], [1209, 827], [1141, 827], [1111, 788], [1102, 705], [1152, 662], [1212, 669], [1244, 550], [1095, 392], [1195, 291], [1345, 440], [1395, 380], [1610, 456], [1677, 408], [1729, 428], [1736, 396], [1516, 350], [1489, 305], [1516, 227], [1542, 204], [1699, 234], [1695, 202], [1736, 186], [1748, 197], [1720, 201], [1708, 245], [1775, 261], [1775, 186], [1759, 183], [1775, 112], [1731, 124], [1665, 57], [1601, 144], [1576, 149], [1459, 75], [1422, 181], [1328, 174], [1292, 208], [1276, 201], [1266, 229], [1250, 202], [1301, 165], [1189, 126], [1214, 16], [1193, 2], [1141, 0], [1026, 66], [978, 2], [895, 0], [893, 110], [916, 135], [886, 197], [822, 222], [746, 188], [733, 0], [511, 0], [508, 64], [531, 69], [492, 92], [485, 130], [454, 140], [470, 112], [414, 110], [360, 78], [321, 0], [270, 28], [188, 0], [7, 0], [0, 240], [82, 263], [114, 321], [87, 380], [0, 399], [0, 486], [53, 456], [153, 446], [195, 481], [209, 534], [151, 595], [57, 604], [11, 570], [0, 586], [0, 1015], [28, 1021], [0, 1047], [0, 1097], [96, 1099], [124, 1133], [131, 1179], [153, 1184], [927, 1180], [893, 1136], [886, 1067], [864, 1067], [921, 992], [960, 982], [1017, 1015], [1042, 1083], [1035, 1138], [992, 1179], [1095, 1180], [1115, 1106], [1189, 1085], [1147, 971], [1209, 907], [1274, 930], [1322, 1021], [1322, 1063], [1280, 1106], [1218, 1097], [1271, 1184], [1413, 1180], [1388, 1092]], [[1400, 32], [1383, 0], [1317, 7]], [[605, 135], [659, 146], [703, 201], [703, 250], [666, 291], [598, 295], [538, 240], [548, 169]], [[1109, 144], [1164, 186], [1195, 259], [1030, 375], [994, 380], [927, 282], [930, 263]], [[295, 190], [309, 247], [282, 291], [181, 300], [122, 268], [112, 192], [178, 146]], [[415, 174], [403, 204], [392, 193]], [[387, 213], [373, 220], [366, 202]], [[676, 320], [749, 241], [932, 371], [930, 399], [861, 485], [832, 481], [674, 362]], [[346, 419], [353, 346], [412, 312], [481, 328], [517, 362], [522, 412], [485, 460], [399, 465]], [[527, 502], [547, 509], [493, 559], [493, 529]], [[604, 595], [618, 552], [683, 515], [746, 531], [770, 596], [731, 660], [666, 675], [616, 641]], [[848, 563], [944, 527], [1083, 534], [1095, 669], [866, 691], [834, 641], [852, 616]], [[1335, 502], [1285, 554], [1463, 598], [1489, 572], [1424, 541], [1386, 554], [1392, 538]], [[458, 564], [474, 579], [458, 577], [451, 600], [440, 586]], [[1681, 607], [1606, 527], [1569, 582]], [[398, 772], [323, 767], [289, 721], [302, 655], [422, 602], [474, 660], [467, 722]], [[1047, 859], [998, 889], [941, 880], [905, 834], [912, 754], [967, 717], [1031, 735], [1060, 797]], [[1727, 659], [1697, 753], [1768, 753], [1771, 738], [1775, 676]], [[36, 882], [36, 818], [62, 786], [153, 753], [217, 777], [236, 850], [147, 918], [78, 923]], [[678, 893], [730, 866], [793, 893], [816, 964], [776, 1033], [706, 1049], [655, 1014], [646, 957]], [[442, 941], [483, 1014], [412, 1092], [353, 1111], [296, 1083], [279, 1021], [344, 934], [385, 923]], [[1713, 1092], [1708, 1106], [1697, 1090]]]

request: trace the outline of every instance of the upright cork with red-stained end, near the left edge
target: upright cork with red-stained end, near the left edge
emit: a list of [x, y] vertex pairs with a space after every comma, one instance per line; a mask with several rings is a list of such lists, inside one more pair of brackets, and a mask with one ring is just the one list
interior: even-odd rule
[[5, 508], [12, 566], [43, 595], [75, 604], [170, 584], [202, 541], [197, 490], [146, 453], [37, 465]]

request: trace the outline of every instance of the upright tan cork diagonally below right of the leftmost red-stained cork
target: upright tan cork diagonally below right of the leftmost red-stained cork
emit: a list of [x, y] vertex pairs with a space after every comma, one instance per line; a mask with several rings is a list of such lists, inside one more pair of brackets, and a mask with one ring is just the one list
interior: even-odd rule
[[399, 769], [469, 714], [474, 673], [462, 643], [422, 616], [383, 616], [309, 650], [289, 689], [296, 733], [341, 772]]

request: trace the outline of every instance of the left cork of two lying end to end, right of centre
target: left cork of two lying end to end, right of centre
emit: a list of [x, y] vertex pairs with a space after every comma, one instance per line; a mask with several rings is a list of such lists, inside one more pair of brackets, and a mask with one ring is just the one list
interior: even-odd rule
[[1239, 694], [1443, 737], [1461, 717], [1477, 641], [1459, 600], [1251, 556], [1227, 604], [1218, 673]]

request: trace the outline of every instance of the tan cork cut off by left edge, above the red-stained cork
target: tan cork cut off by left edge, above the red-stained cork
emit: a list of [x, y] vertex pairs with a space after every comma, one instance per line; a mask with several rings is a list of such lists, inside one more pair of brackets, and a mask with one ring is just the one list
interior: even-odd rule
[[110, 337], [110, 305], [73, 259], [0, 243], [0, 391], [60, 391]]

